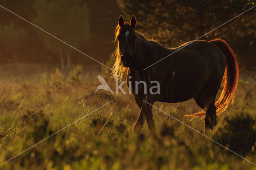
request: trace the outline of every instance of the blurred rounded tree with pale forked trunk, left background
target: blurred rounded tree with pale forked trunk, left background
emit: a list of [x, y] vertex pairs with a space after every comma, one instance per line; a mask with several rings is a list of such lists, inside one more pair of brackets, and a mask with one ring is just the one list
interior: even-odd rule
[[[75, 48], [79, 48], [82, 42], [88, 40], [89, 11], [81, 0], [37, 0], [34, 8], [37, 11], [35, 24], [60, 40]], [[62, 70], [65, 69], [65, 56], [68, 70], [74, 49], [41, 30], [38, 30], [38, 33], [46, 48], [59, 54]]]

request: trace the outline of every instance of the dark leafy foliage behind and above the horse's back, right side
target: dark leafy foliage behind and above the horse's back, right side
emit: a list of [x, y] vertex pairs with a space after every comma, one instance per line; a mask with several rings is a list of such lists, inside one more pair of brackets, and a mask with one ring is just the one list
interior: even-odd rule
[[[126, 19], [135, 14], [148, 38], [175, 47], [195, 40], [254, 5], [251, 0], [118, 0]], [[256, 9], [210, 32], [201, 40], [223, 38], [240, 50], [256, 45]], [[247, 47], [247, 48], [245, 48]]]

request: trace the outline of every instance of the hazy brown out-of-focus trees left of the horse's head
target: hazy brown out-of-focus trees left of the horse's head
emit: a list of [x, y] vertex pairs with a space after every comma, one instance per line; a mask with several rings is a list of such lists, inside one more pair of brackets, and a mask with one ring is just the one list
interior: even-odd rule
[[[108, 60], [120, 10], [116, 0], [26, 0], [0, 4], [99, 61]], [[0, 8], [0, 62], [94, 61]]]

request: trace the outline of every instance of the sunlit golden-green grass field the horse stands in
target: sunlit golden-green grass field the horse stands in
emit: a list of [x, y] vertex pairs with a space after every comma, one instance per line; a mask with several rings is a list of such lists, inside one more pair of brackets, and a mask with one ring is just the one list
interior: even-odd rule
[[[256, 170], [250, 162], [156, 108], [153, 114], [160, 142], [152, 138], [146, 123], [142, 133], [134, 135], [140, 109], [132, 95], [104, 90], [94, 95], [100, 73], [115, 89], [114, 80], [100, 68], [73, 66], [68, 74], [57, 67], [0, 65], [0, 164], [113, 102], [2, 164], [0, 170]], [[234, 104], [206, 136], [256, 164], [255, 93], [255, 73], [241, 68]], [[204, 132], [203, 120], [190, 121], [184, 116], [198, 111], [193, 100], [156, 102], [154, 106]]]

